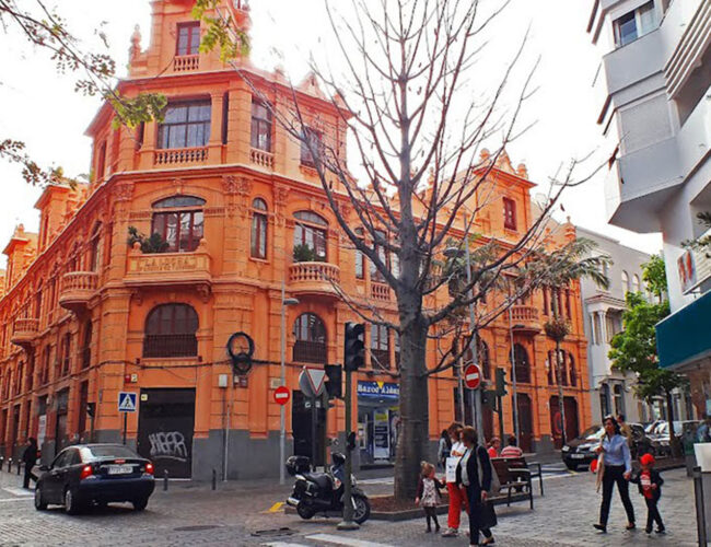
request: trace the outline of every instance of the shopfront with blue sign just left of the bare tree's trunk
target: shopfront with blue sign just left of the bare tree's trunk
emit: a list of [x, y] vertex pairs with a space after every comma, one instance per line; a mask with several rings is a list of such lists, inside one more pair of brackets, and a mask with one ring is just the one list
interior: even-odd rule
[[358, 382], [358, 439], [361, 464], [395, 459], [399, 400], [398, 384]]

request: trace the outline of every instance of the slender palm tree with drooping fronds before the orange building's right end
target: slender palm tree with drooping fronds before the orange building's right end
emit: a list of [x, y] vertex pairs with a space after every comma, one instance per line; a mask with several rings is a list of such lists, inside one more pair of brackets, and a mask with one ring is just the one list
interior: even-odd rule
[[[550, 253], [538, 252], [523, 268], [523, 276], [534, 287], [548, 287], [556, 291], [570, 286], [571, 282], [588, 278], [602, 289], [609, 288], [609, 279], [605, 275], [606, 266], [611, 264], [609, 256], [594, 255], [597, 243], [585, 237], [568, 242]], [[562, 420], [562, 442], [566, 444], [566, 405], [563, 404], [562, 361], [560, 345], [570, 334], [570, 323], [561, 315], [558, 299], [551, 298], [553, 316], [544, 328], [546, 335], [556, 342], [556, 376], [558, 383], [558, 407]]]

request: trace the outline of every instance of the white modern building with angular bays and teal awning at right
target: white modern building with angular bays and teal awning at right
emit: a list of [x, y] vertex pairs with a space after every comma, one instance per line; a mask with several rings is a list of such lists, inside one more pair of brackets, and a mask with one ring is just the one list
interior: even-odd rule
[[657, 326], [661, 364], [687, 373], [697, 414], [711, 412], [711, 260], [683, 246], [711, 211], [711, 0], [594, 0], [587, 31], [615, 150], [609, 222], [662, 232], [673, 315]]

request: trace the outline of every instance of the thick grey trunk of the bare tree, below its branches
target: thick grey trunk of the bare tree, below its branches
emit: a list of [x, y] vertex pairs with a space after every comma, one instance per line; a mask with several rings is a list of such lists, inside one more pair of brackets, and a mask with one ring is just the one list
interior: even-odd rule
[[429, 459], [427, 325], [421, 314], [411, 317], [400, 335], [400, 426], [395, 456], [395, 497], [413, 499], [420, 462]]

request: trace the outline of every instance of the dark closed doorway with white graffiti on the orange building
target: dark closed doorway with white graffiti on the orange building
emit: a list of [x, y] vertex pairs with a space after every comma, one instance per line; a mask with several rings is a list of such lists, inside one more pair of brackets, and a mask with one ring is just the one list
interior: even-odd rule
[[195, 389], [141, 389], [137, 449], [158, 477], [191, 477], [194, 432]]

